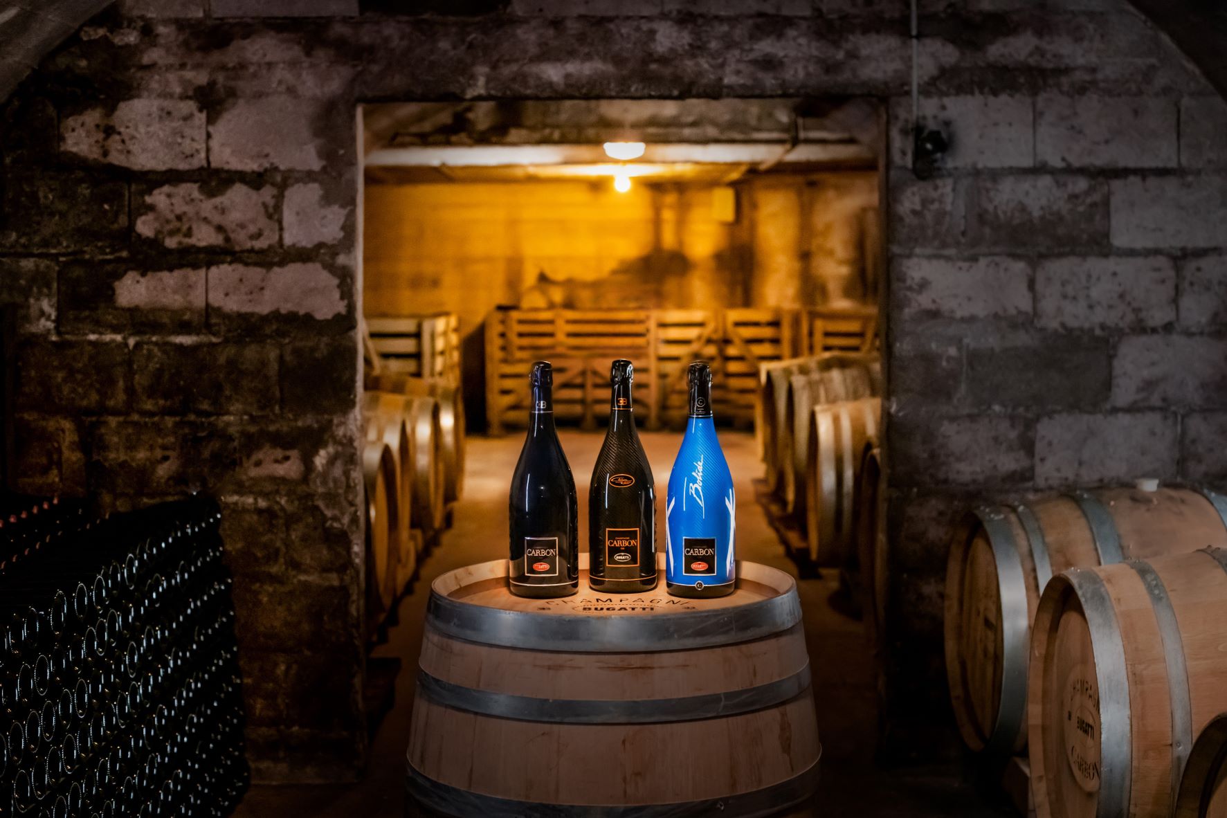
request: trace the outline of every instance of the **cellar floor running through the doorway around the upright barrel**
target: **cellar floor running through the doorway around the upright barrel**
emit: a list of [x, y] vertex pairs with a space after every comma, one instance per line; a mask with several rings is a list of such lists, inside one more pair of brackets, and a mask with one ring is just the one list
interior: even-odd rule
[[[560, 433], [579, 487], [580, 537], [587, 531], [585, 487], [602, 435], [579, 430]], [[644, 449], [663, 494], [680, 433], [642, 433]], [[762, 508], [753, 502], [752, 481], [762, 473], [752, 434], [721, 432], [737, 495], [739, 557], [796, 575]], [[467, 440], [464, 498], [453, 509], [453, 527], [421, 565], [421, 574], [400, 603], [400, 624], [374, 656], [401, 660], [395, 704], [372, 742], [366, 775], [357, 784], [253, 786], [236, 813], [239, 818], [400, 818], [404, 807], [404, 752], [413, 700], [413, 672], [422, 639], [422, 619], [431, 581], [453, 568], [504, 556], [507, 491], [521, 445], [517, 434]], [[814, 672], [814, 694], [823, 744], [822, 784], [811, 811], [796, 814], [881, 817], [1010, 816], [988, 806], [962, 781], [955, 766], [881, 770], [872, 763], [876, 701], [869, 650], [858, 621], [840, 612], [838, 576], [823, 573], [799, 580], [805, 629]]]

